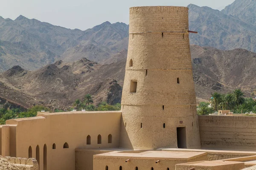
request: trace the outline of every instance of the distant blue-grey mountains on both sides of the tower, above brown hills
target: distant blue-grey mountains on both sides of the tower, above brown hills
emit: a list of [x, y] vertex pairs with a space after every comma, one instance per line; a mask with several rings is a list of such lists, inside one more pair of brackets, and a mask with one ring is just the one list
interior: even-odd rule
[[[256, 52], [256, 1], [236, 0], [224, 10], [189, 6], [191, 44], [222, 50], [244, 48]], [[128, 25], [105, 22], [91, 29], [67, 29], [20, 16], [0, 17], [0, 71], [14, 65], [35, 70], [55, 61], [83, 57], [99, 63], [128, 47]]]

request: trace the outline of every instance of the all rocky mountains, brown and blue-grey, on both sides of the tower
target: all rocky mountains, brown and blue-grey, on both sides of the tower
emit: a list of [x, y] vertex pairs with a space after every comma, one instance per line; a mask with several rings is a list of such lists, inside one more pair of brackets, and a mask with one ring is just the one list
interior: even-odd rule
[[[222, 11], [188, 7], [189, 29], [198, 31], [190, 34], [198, 102], [235, 88], [250, 96], [256, 89], [256, 54], [250, 52], [256, 52], [256, 0], [236, 0]], [[81, 31], [0, 17], [0, 103], [67, 108], [88, 93], [96, 104], [120, 102], [127, 47], [125, 23]]]

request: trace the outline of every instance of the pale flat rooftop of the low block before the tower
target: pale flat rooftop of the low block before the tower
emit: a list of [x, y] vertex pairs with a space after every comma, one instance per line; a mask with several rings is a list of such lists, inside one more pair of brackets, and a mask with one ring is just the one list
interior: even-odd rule
[[136, 158], [164, 158], [164, 159], [191, 159], [206, 155], [206, 152], [186, 152], [186, 151], [145, 151], [140, 153], [108, 152], [97, 156], [111, 157], [136, 157]]

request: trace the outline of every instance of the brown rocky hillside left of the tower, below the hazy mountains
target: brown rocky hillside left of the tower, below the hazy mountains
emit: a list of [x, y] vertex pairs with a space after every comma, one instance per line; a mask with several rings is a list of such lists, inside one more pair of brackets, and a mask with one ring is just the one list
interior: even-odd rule
[[0, 100], [24, 108], [42, 104], [67, 109], [76, 99], [92, 94], [96, 105], [101, 101], [113, 105], [121, 101], [124, 65], [125, 61], [100, 65], [82, 58], [59, 60], [36, 71], [14, 66], [0, 74]]

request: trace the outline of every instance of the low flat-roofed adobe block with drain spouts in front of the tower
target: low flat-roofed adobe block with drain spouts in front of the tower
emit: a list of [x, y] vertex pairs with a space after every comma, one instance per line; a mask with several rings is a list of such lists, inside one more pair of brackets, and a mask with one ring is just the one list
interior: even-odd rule
[[[147, 154], [152, 152], [152, 155]], [[93, 170], [175, 170], [175, 164], [207, 160], [207, 153], [180, 153], [160, 151], [142, 153], [110, 152], [93, 156]], [[173, 154], [173, 157], [170, 156]], [[193, 155], [195, 154], [195, 155]], [[192, 155], [191, 157], [189, 157]], [[170, 156], [170, 157], [169, 157]], [[175, 157], [177, 156], [177, 157]], [[156, 163], [157, 162], [157, 163]]]

